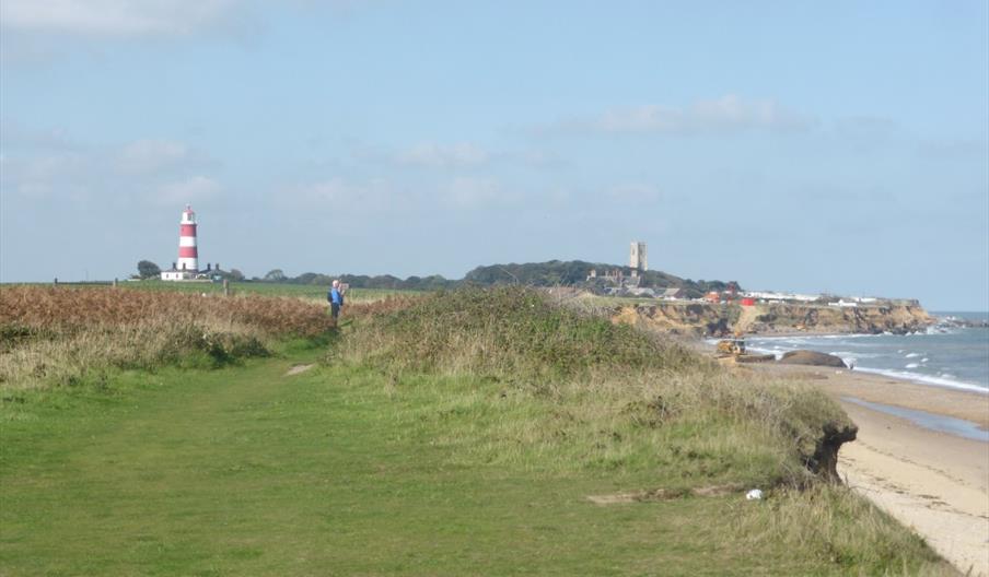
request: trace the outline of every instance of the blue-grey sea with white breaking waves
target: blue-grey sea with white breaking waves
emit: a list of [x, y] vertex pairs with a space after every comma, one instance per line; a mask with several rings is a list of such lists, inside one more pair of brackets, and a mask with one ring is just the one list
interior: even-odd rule
[[800, 349], [840, 356], [854, 370], [989, 395], [989, 328], [951, 319], [987, 320], [989, 313], [932, 313], [943, 322], [912, 334], [746, 337], [749, 351], [777, 357]]

